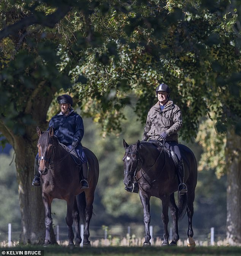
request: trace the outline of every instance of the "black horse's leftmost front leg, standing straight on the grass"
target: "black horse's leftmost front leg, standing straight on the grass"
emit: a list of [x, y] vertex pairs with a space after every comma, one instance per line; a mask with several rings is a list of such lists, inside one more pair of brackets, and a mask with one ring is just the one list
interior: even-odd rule
[[151, 235], [150, 235], [150, 221], [151, 221], [150, 196], [141, 190], [140, 190], [139, 195], [140, 195], [141, 203], [143, 206], [144, 224], [145, 224], [145, 229], [146, 229], [146, 236], [145, 236], [145, 241], [143, 243], [143, 246], [151, 246], [151, 243], [150, 243], [150, 240], [151, 240]]

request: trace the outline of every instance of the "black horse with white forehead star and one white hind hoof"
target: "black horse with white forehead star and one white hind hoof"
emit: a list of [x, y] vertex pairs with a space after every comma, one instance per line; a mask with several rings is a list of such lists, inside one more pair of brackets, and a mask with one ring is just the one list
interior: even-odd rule
[[182, 219], [187, 211], [188, 230], [187, 245], [195, 246], [192, 229], [193, 201], [195, 187], [197, 185], [197, 161], [193, 152], [180, 144], [180, 151], [185, 168], [185, 183], [187, 194], [178, 195], [179, 205], [176, 206], [174, 192], [178, 190], [178, 178], [173, 160], [167, 150], [157, 144], [138, 141], [128, 145], [123, 140], [125, 147], [124, 161], [124, 184], [130, 190], [134, 180], [139, 184], [139, 195], [144, 210], [144, 223], [146, 236], [143, 246], [150, 246], [150, 198], [151, 196], [162, 200], [162, 222], [164, 224], [164, 241], [162, 245], [169, 245], [168, 238], [168, 206], [173, 219], [173, 238], [171, 245], [177, 245], [178, 219]]

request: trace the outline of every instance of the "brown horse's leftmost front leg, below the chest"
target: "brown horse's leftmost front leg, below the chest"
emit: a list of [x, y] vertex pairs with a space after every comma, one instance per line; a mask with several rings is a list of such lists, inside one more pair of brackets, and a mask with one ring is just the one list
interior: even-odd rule
[[45, 240], [44, 240], [44, 246], [51, 245], [51, 237], [50, 237], [50, 229], [52, 226], [52, 217], [51, 217], [51, 203], [52, 203], [52, 198], [47, 197], [46, 195], [42, 194], [42, 200], [44, 204], [44, 209], [45, 209]]

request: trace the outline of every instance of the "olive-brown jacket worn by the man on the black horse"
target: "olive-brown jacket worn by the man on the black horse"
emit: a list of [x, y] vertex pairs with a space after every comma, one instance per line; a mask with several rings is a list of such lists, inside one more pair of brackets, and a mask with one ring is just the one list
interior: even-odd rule
[[173, 101], [168, 101], [161, 111], [157, 102], [147, 114], [146, 125], [144, 127], [143, 140], [156, 140], [158, 136], [166, 131], [169, 135], [166, 141], [178, 141], [177, 132], [182, 127], [182, 112]]

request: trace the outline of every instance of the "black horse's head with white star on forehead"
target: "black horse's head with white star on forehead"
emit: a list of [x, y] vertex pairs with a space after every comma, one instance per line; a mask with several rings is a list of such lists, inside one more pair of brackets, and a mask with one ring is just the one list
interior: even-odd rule
[[140, 170], [140, 141], [136, 144], [129, 146], [123, 139], [123, 146], [125, 148], [125, 155], [123, 157], [124, 162], [124, 184], [125, 189], [130, 191], [133, 187], [134, 178], [137, 172]]

